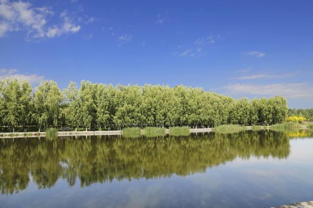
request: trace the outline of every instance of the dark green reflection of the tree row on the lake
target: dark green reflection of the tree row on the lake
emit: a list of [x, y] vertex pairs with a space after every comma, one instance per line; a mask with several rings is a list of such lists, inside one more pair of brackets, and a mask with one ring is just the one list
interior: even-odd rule
[[204, 172], [236, 157], [287, 158], [289, 137], [284, 132], [191, 134], [188, 137], [119, 138], [117, 136], [25, 138], [0, 140], [2, 194], [51, 188], [59, 178], [81, 187], [113, 179], [180, 176]]

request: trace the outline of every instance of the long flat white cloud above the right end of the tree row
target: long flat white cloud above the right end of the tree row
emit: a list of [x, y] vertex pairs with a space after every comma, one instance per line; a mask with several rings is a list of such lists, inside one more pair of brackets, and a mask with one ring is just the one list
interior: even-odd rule
[[312, 84], [277, 83], [267, 85], [234, 84], [223, 87], [230, 94], [238, 95], [284, 95], [287, 98], [313, 98]]

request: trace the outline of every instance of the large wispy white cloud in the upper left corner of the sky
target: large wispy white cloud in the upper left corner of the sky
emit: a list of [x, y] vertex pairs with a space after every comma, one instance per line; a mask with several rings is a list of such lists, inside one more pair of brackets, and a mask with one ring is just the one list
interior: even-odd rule
[[33, 7], [29, 2], [23, 1], [0, 1], [0, 38], [9, 31], [26, 30], [27, 40], [38, 38], [53, 38], [62, 34], [76, 33], [80, 25], [67, 16], [64, 10], [60, 14], [62, 23], [59, 25], [48, 25], [48, 17], [54, 15], [51, 8]]

